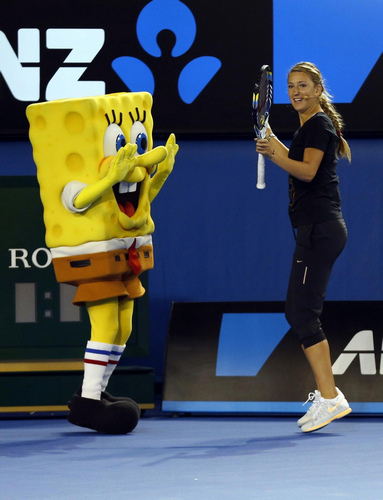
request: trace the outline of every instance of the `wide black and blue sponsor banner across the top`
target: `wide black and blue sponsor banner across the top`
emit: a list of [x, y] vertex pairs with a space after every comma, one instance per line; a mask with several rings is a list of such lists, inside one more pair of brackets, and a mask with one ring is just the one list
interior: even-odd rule
[[[302, 12], [315, 23], [297, 27]], [[135, 91], [153, 94], [157, 133], [253, 136], [252, 93], [264, 64], [274, 74], [273, 129], [290, 134], [297, 121], [286, 109], [286, 76], [301, 60], [321, 69], [348, 133], [383, 132], [380, 0], [363, 8], [357, 0], [309, 1], [303, 11], [298, 0], [242, 0], [235, 9], [66, 0], [59, 25], [49, 0], [19, 0], [0, 15], [0, 136], [26, 136], [30, 103]]]

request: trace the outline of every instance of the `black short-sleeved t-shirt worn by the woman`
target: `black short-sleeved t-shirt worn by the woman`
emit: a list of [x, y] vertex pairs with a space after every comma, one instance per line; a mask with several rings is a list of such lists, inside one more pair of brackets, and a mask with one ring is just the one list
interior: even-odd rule
[[336, 173], [338, 141], [332, 121], [323, 112], [312, 116], [295, 132], [289, 158], [303, 161], [305, 148], [319, 149], [324, 156], [311, 182], [289, 176], [289, 216], [293, 227], [342, 217]]

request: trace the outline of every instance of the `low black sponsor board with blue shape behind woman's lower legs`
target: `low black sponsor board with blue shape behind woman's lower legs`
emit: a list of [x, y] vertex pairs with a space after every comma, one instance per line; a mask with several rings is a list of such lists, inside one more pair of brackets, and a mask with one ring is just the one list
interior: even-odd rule
[[[316, 384], [283, 310], [283, 302], [173, 304], [163, 410], [307, 411]], [[335, 383], [354, 413], [383, 413], [382, 317], [381, 301], [325, 303]]]

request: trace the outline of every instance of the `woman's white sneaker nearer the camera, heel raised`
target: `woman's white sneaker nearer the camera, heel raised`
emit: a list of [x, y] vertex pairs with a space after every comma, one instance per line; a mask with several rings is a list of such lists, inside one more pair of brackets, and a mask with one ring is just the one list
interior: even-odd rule
[[328, 425], [333, 420], [351, 413], [351, 408], [343, 393], [337, 388], [338, 396], [334, 399], [320, 397], [311, 419], [302, 425], [302, 432], [312, 432]]

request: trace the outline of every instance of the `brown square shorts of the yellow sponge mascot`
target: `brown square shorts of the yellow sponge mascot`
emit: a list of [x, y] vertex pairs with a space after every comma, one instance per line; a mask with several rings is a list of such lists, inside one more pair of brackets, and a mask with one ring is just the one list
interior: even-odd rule
[[145, 293], [138, 276], [153, 268], [153, 247], [143, 245], [136, 250], [141, 268], [129, 263], [129, 251], [113, 250], [53, 259], [59, 283], [77, 286], [73, 304], [112, 297], [135, 299]]

